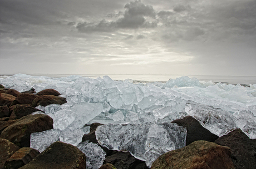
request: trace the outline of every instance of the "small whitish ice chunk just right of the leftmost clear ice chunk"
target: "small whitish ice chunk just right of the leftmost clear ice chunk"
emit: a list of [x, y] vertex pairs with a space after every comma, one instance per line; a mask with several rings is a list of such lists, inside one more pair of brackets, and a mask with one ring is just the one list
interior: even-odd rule
[[82, 129], [65, 129], [60, 134], [60, 141], [77, 146], [82, 141], [83, 134]]

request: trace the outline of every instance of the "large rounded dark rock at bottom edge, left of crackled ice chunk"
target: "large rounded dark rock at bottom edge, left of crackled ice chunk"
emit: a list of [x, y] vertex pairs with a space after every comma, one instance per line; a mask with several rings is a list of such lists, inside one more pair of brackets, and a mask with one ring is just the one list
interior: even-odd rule
[[77, 147], [57, 141], [20, 169], [86, 168], [86, 157]]

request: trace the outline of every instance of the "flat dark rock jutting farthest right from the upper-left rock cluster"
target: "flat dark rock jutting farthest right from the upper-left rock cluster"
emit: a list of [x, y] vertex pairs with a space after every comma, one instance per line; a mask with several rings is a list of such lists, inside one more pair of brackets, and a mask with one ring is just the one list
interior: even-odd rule
[[35, 100], [33, 100], [32, 107], [36, 106], [48, 106], [51, 104], [58, 104], [62, 105], [67, 103], [65, 98], [61, 98], [59, 96], [53, 96], [53, 95], [42, 95], [42, 96], [37, 96]]

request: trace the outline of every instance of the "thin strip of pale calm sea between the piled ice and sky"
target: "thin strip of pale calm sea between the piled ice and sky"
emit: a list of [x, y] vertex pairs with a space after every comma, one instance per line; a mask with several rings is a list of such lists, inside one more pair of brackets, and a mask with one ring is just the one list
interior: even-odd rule
[[[48, 76], [51, 78], [61, 78], [71, 76], [72, 74], [28, 74], [32, 76]], [[76, 74], [83, 77], [98, 78], [105, 74]], [[196, 78], [199, 81], [212, 81], [214, 83], [228, 83], [228, 84], [256, 84], [256, 76], [216, 76], [216, 75], [168, 75], [168, 74], [107, 74], [113, 80], [132, 79], [135, 81], [161, 81], [166, 82], [169, 79], [176, 79], [181, 76], [189, 76], [189, 78]]]

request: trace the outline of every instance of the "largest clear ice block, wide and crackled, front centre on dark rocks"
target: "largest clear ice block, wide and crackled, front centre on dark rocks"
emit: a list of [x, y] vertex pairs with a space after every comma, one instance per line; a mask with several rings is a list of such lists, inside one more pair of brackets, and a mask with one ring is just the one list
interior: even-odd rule
[[185, 128], [175, 124], [102, 125], [96, 138], [110, 150], [130, 151], [147, 166], [161, 154], [185, 146]]

